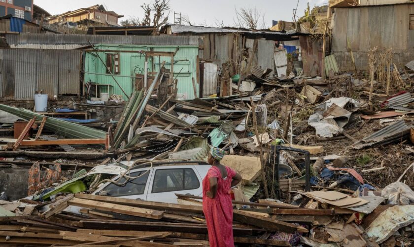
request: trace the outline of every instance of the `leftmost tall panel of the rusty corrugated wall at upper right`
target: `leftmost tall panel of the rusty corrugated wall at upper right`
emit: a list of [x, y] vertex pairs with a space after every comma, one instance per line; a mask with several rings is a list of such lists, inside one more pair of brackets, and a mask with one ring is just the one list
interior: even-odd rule
[[346, 51], [348, 8], [335, 8], [334, 23], [334, 39], [332, 42], [332, 51]]

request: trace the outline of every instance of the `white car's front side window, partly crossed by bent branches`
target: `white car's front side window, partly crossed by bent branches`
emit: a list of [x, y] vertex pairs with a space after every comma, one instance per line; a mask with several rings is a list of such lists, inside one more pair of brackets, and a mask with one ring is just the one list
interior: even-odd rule
[[[129, 181], [119, 186], [114, 183], [108, 184], [102, 191], [98, 192], [99, 195], [106, 195], [106, 196], [132, 196], [132, 195], [142, 195], [144, 194], [145, 184], [148, 179], [149, 172], [145, 171], [138, 171], [129, 174], [130, 177], [137, 177], [135, 179], [129, 179]], [[123, 184], [127, 178], [122, 177], [117, 182], [118, 184]]]

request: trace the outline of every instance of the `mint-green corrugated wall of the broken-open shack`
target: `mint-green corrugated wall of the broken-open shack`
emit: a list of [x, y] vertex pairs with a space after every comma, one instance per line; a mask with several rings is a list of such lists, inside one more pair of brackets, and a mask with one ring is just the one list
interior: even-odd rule
[[[178, 51], [174, 56], [174, 78], [176, 76], [178, 79], [178, 93], [183, 93], [186, 99], [194, 98], [194, 89], [192, 78], [198, 82], [197, 79], [197, 55], [199, 53], [199, 47], [197, 45], [116, 45], [116, 44], [97, 44], [95, 48], [98, 50], [112, 50], [120, 52], [120, 74], [115, 75], [116, 80], [128, 94], [132, 93], [135, 84], [135, 78], [127, 78], [121, 76], [135, 77], [135, 74], [143, 74], [145, 55], [139, 53], [139, 51]], [[122, 50], [128, 51], [137, 51], [134, 52], [122, 52]], [[107, 52], [110, 53], [110, 52]], [[106, 61], [105, 52], [98, 52], [98, 55], [101, 56], [102, 60]], [[153, 57], [153, 59], [148, 59], [148, 69], [149, 71], [157, 72], [159, 70], [160, 62], [166, 61], [165, 67], [171, 69], [171, 58], [170, 57]], [[154, 69], [153, 69], [154, 68]], [[180, 70], [182, 69], [181, 73]], [[96, 74], [105, 74], [105, 75], [94, 75]], [[126, 99], [125, 95], [122, 93], [119, 86], [112, 79], [109, 74], [106, 74], [105, 65], [97, 57], [95, 52], [87, 52], [85, 54], [85, 74], [84, 82], [96, 82], [99, 84], [111, 84], [112, 91], [111, 94], [122, 95]], [[196, 83], [197, 93], [199, 92], [199, 84]], [[101, 87], [101, 92], [106, 92], [107, 87]]]

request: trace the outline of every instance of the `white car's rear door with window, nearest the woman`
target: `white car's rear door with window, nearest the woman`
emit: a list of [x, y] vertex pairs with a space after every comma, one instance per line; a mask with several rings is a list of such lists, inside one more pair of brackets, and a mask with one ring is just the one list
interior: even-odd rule
[[175, 194], [199, 195], [201, 190], [201, 180], [193, 166], [156, 167], [146, 200], [176, 204]]

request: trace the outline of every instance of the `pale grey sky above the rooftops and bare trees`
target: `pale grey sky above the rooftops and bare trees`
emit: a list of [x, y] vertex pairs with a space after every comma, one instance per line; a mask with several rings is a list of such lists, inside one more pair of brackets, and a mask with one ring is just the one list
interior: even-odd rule
[[[151, 0], [34, 0], [34, 3], [50, 14], [61, 14], [69, 10], [89, 7], [95, 4], [104, 4], [107, 10], [113, 10], [124, 15], [121, 20], [129, 17], [141, 17], [142, 3], [151, 3]], [[310, 2], [311, 8], [327, 3], [328, 0], [299, 0], [296, 15], [301, 17]], [[170, 0], [171, 13], [169, 23], [173, 23], [173, 13], [181, 12], [192, 25], [216, 26], [223, 23], [224, 26], [235, 26], [235, 8], [253, 8], [264, 14], [265, 27], [272, 26], [272, 20], [292, 21], [293, 9], [297, 0]], [[259, 28], [262, 28], [261, 25]]]

